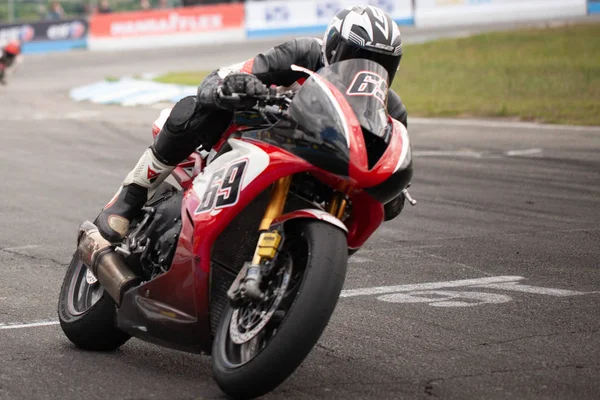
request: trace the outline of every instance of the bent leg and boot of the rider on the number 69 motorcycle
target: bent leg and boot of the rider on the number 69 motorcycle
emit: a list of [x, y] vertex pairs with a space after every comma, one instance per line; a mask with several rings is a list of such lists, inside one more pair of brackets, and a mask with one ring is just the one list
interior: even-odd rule
[[171, 111], [154, 143], [125, 177], [113, 199], [98, 216], [98, 230], [107, 240], [119, 242], [129, 223], [140, 212], [175, 166], [207, 138], [220, 137], [232, 114], [200, 107], [196, 96], [180, 100]]

